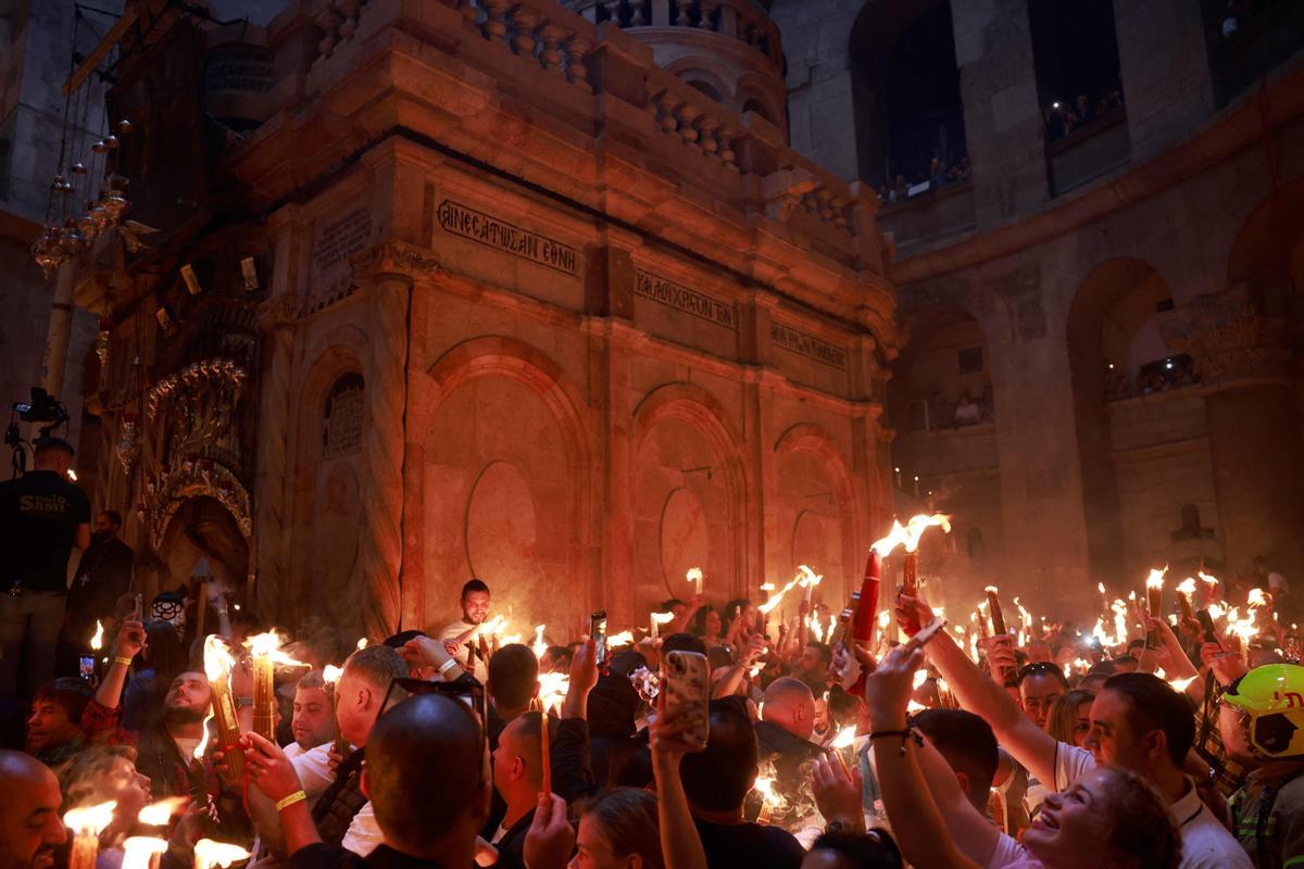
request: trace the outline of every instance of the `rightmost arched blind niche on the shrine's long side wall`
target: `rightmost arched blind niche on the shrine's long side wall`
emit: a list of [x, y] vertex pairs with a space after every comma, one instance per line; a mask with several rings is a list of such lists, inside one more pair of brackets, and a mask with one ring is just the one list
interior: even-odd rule
[[[841, 601], [848, 599], [853, 590], [853, 584], [859, 564], [857, 559], [862, 554], [862, 541], [861, 541], [861, 528], [866, 525], [863, 519], [863, 511], [861, 509], [861, 502], [857, 498], [855, 483], [852, 479], [852, 473], [846, 466], [846, 460], [842, 456], [841, 449], [838, 449], [832, 434], [823, 426], [814, 422], [799, 422], [784, 434], [778, 436], [775, 443], [775, 459], [778, 464], [778, 487], [782, 498], [782, 490], [785, 486], [785, 465], [789, 460], [797, 459], [799, 456], [807, 456], [814, 460], [820, 469], [828, 474], [828, 481], [832, 483], [832, 500], [833, 508], [836, 511], [840, 526], [833, 529], [840, 541], [835, 542], [840, 550], [840, 565], [841, 576], [832, 576], [829, 573], [828, 565], [811, 564], [811, 567], [819, 572], [824, 573], [823, 591], [820, 597], [824, 602], [833, 602], [833, 608]], [[798, 545], [797, 538], [801, 534], [801, 525], [803, 517], [810, 516], [824, 516], [828, 512], [820, 509], [822, 492], [801, 492], [805, 499], [811, 499], [816, 503], [802, 503], [794, 504], [795, 517], [793, 520], [793, 552], [792, 558], [795, 562], [798, 559]], [[867, 543], [866, 543], [867, 546]], [[792, 564], [795, 569], [797, 564]]]

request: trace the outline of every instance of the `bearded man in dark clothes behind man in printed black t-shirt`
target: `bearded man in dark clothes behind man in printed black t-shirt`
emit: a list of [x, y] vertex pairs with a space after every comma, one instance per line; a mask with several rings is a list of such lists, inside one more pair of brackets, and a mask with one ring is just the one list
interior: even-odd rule
[[90, 546], [82, 554], [68, 589], [68, 619], [60, 644], [60, 672], [74, 675], [77, 657], [90, 654], [90, 637], [95, 621], [113, 615], [119, 598], [132, 588], [132, 563], [136, 552], [124, 543], [117, 532], [123, 517], [117, 511], [106, 509], [95, 517]]

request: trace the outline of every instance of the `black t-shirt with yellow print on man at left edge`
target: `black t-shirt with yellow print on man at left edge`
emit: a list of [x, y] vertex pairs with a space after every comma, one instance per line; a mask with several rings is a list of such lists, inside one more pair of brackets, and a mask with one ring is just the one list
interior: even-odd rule
[[89, 522], [86, 492], [53, 470], [0, 482], [0, 585], [67, 591], [77, 526]]

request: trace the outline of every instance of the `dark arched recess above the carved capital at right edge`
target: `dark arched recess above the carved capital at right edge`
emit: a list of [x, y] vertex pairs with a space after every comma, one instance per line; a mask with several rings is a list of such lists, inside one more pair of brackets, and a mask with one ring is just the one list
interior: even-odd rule
[[1274, 190], [1245, 218], [1227, 257], [1227, 281], [1304, 291], [1304, 180]]

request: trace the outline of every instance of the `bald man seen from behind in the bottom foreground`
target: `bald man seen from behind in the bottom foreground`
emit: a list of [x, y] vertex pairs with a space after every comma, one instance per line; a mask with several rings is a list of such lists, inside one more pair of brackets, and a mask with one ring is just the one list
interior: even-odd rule
[[303, 869], [469, 866], [476, 834], [489, 817], [490, 787], [475, 715], [447, 697], [412, 697], [381, 715], [366, 741], [363, 791], [376, 809], [382, 844], [364, 859], [318, 842], [296, 851], [288, 864]]

